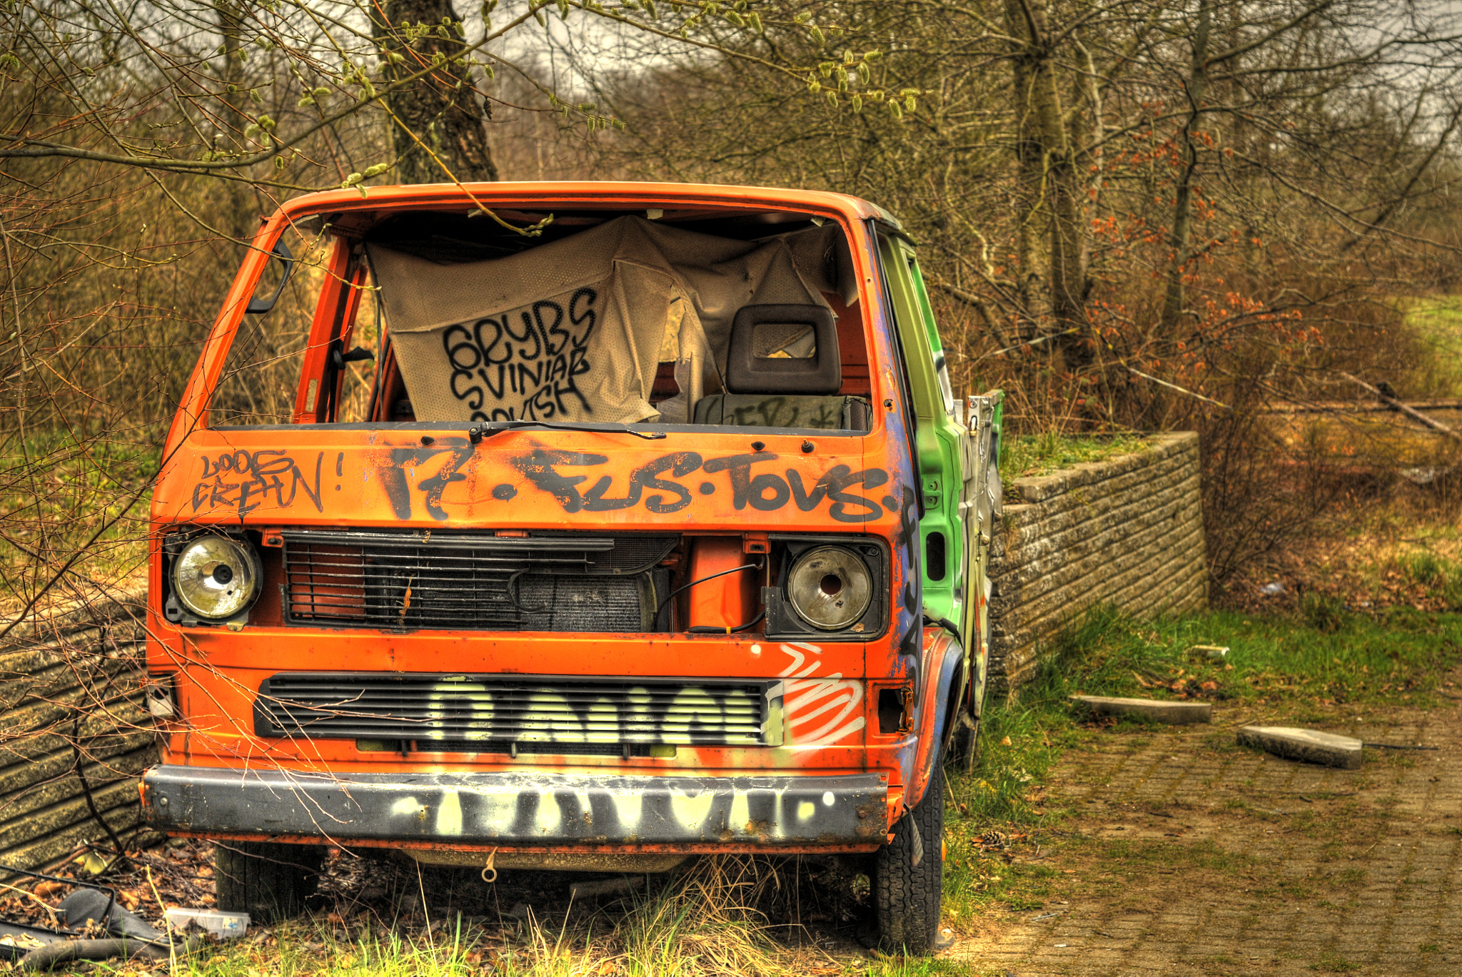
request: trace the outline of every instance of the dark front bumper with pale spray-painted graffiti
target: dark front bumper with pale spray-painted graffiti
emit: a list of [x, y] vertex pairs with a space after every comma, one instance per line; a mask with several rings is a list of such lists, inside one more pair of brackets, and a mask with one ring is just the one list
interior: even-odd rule
[[885, 844], [889, 787], [842, 777], [306, 774], [154, 766], [162, 831], [406, 844], [575, 847]]

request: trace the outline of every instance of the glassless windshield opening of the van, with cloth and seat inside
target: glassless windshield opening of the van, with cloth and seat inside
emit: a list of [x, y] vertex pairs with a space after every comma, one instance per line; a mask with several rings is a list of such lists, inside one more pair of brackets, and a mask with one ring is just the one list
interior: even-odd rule
[[[864, 313], [832, 221], [580, 211], [529, 238], [408, 211], [325, 230], [295, 247], [273, 307], [244, 316], [212, 427], [871, 427]], [[257, 294], [278, 288], [276, 265]]]

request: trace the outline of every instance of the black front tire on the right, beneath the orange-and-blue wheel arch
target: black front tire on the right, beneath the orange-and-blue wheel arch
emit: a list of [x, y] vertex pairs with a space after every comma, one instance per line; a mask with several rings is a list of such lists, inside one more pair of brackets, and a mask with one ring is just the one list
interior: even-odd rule
[[[923, 853], [918, 864], [915, 850]], [[944, 768], [936, 762], [923, 800], [895, 822], [893, 844], [880, 848], [874, 861], [873, 901], [883, 949], [914, 957], [933, 952], [943, 885]]]

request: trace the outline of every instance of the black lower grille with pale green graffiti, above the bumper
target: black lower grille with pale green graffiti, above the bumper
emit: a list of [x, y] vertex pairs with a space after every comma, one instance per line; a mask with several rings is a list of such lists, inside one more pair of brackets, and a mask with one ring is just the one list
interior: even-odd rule
[[[281, 673], [254, 701], [266, 737], [414, 740], [418, 750], [512, 743], [782, 742], [775, 680]], [[560, 750], [583, 752], [583, 750]], [[613, 750], [607, 750], [613, 752]]]

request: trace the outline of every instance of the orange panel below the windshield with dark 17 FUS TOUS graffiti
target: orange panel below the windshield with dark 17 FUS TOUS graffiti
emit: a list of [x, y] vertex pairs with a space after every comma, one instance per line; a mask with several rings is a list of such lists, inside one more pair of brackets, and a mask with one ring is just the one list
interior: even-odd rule
[[351, 427], [197, 430], [154, 524], [886, 532], [912, 491], [880, 433]]

